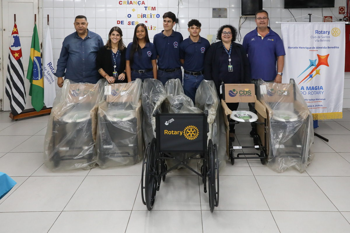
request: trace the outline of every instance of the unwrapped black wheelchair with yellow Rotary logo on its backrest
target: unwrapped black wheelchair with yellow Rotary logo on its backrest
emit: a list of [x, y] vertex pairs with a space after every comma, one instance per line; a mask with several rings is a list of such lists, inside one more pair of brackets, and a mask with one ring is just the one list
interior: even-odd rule
[[[141, 177], [141, 197], [149, 211], [152, 210], [156, 192], [166, 174], [182, 165], [202, 177], [204, 192], [207, 192], [207, 177], [210, 211], [219, 204], [219, 170], [216, 144], [209, 139], [207, 145], [208, 111], [204, 114], [160, 114], [155, 111], [155, 132], [147, 145]], [[186, 153], [185, 159], [176, 154]], [[166, 160], [177, 163], [167, 168]], [[187, 165], [190, 160], [202, 160], [201, 173]], [[216, 179], [217, 178], [217, 179]]]

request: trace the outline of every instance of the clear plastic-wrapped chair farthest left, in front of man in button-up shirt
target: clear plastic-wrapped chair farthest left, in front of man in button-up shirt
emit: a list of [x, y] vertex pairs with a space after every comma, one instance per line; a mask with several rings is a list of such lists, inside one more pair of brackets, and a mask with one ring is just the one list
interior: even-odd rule
[[104, 80], [96, 84], [64, 80], [44, 139], [44, 162], [50, 170], [95, 166], [97, 111], [103, 87]]

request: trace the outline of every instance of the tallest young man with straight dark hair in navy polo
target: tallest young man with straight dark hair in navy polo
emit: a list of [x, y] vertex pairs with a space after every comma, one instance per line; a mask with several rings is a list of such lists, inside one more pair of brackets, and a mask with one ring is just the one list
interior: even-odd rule
[[169, 79], [180, 79], [182, 82], [179, 50], [183, 38], [180, 32], [173, 30], [175, 20], [176, 16], [173, 12], [165, 13], [163, 15], [164, 30], [153, 37], [153, 44], [158, 55], [157, 78], [163, 85]]

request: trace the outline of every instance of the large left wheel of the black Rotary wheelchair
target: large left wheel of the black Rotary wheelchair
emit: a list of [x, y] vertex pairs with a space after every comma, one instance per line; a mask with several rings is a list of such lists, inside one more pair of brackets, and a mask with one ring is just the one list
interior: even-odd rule
[[153, 208], [158, 185], [158, 163], [156, 154], [156, 139], [153, 138], [148, 148], [146, 173], [145, 173], [145, 197], [146, 206], [150, 211]]

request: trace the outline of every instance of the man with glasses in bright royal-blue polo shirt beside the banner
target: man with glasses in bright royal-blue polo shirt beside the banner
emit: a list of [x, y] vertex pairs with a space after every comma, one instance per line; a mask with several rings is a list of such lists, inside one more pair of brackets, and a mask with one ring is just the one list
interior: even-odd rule
[[[259, 10], [255, 13], [257, 28], [244, 36], [243, 47], [247, 51], [251, 68], [252, 82], [257, 92], [257, 81], [282, 82], [284, 55], [286, 55], [280, 36], [268, 27], [268, 13]], [[277, 71], [276, 71], [277, 63]], [[248, 103], [249, 111], [255, 111], [255, 104]], [[256, 135], [255, 124], [252, 125], [250, 136]]]

